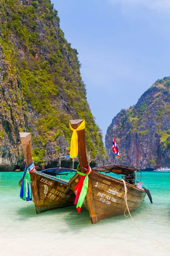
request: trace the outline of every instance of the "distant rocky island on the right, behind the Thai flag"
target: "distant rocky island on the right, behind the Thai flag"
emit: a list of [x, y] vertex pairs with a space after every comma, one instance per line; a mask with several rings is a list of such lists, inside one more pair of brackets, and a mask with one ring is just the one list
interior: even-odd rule
[[111, 161], [113, 137], [120, 153], [116, 163], [140, 169], [170, 167], [170, 77], [157, 80], [136, 105], [113, 118], [105, 136]]

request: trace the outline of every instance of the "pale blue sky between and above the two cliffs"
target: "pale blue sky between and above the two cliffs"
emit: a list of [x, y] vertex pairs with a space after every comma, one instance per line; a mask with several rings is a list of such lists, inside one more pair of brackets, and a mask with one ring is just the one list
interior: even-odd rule
[[81, 76], [105, 137], [122, 108], [170, 76], [170, 0], [52, 0], [79, 52]]

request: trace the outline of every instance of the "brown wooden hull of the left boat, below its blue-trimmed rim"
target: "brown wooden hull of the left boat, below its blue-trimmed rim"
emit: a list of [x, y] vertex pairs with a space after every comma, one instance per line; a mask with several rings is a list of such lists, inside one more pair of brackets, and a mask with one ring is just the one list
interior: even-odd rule
[[30, 176], [33, 201], [37, 214], [74, 205], [75, 195], [69, 189], [67, 180], [57, 179], [37, 171], [31, 172]]

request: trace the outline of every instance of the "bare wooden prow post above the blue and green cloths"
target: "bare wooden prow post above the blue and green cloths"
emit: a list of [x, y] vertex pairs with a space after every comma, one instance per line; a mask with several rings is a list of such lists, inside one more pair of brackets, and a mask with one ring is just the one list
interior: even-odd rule
[[20, 132], [20, 139], [23, 147], [23, 153], [26, 160], [26, 166], [32, 163], [32, 152], [31, 152], [31, 133]]

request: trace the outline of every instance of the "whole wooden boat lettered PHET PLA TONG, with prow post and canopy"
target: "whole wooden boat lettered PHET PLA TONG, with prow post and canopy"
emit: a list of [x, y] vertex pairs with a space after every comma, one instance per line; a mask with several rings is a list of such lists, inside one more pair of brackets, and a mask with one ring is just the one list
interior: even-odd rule
[[[72, 130], [76, 130], [83, 121], [84, 120], [71, 120], [70, 125]], [[85, 150], [85, 129], [77, 129], [77, 143], [80, 165], [78, 171], [82, 174], [86, 173], [86, 176], [88, 175], [88, 189], [83, 206], [90, 213], [92, 224], [95, 224], [104, 218], [120, 215], [125, 212], [127, 206], [124, 199], [126, 188], [127, 204], [130, 212], [139, 208], [146, 195], [142, 186], [140, 187], [135, 185], [134, 173], [140, 171], [133, 167], [113, 165], [97, 167], [89, 173]], [[113, 172], [125, 175], [124, 180], [126, 188], [123, 180], [100, 172]], [[75, 194], [75, 187], [83, 177], [84, 176], [82, 175], [75, 174], [68, 183], [68, 186]]]

